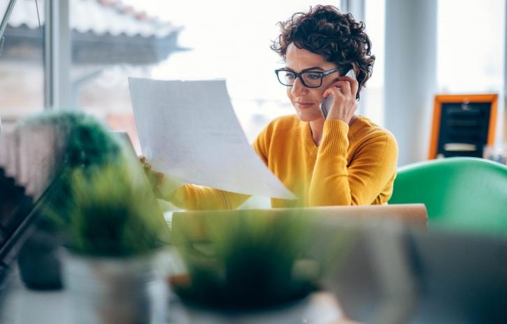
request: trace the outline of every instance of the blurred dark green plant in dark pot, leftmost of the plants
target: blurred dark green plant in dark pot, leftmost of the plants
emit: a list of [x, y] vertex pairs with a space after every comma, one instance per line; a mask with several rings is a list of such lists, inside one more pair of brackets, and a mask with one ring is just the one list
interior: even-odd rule
[[[55, 190], [45, 201], [50, 206], [46, 211], [65, 211], [72, 204], [73, 198], [69, 195], [69, 174], [72, 170], [123, 159], [122, 143], [97, 119], [82, 112], [43, 112], [20, 121], [17, 128], [20, 132], [33, 131], [39, 134], [36, 136], [39, 144], [53, 151], [54, 161], [50, 163], [52, 170], [40, 171], [52, 173], [42, 177], [56, 177]], [[48, 136], [48, 133], [52, 136]], [[17, 260], [22, 281], [28, 288], [62, 288], [61, 260], [57, 247], [62, 244], [60, 233], [67, 221], [66, 216], [66, 212], [62, 212], [56, 217], [48, 217], [43, 212], [37, 218], [33, 235], [20, 250]]]

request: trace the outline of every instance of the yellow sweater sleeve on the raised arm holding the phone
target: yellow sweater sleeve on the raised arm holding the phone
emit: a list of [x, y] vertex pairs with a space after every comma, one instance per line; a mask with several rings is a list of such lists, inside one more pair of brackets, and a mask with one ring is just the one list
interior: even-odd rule
[[390, 133], [373, 135], [347, 161], [348, 124], [324, 122], [308, 191], [310, 206], [370, 205], [393, 179], [398, 148]]

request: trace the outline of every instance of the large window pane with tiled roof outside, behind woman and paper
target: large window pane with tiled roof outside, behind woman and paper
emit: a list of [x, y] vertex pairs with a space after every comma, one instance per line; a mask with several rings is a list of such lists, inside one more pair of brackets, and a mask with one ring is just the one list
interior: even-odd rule
[[[82, 110], [101, 115], [113, 127], [132, 129], [134, 125], [127, 76], [225, 78], [236, 115], [250, 141], [269, 120], [293, 113], [285, 89], [273, 72], [283, 64], [270, 45], [278, 36], [276, 23], [294, 12], [308, 10], [311, 4], [308, 1], [274, 1], [269, 6], [250, 1], [238, 6], [232, 0], [201, 1], [198, 5], [191, 1], [124, 0], [127, 6], [118, 6], [115, 1], [103, 0], [94, 3], [94, 8], [87, 4], [87, 10], [102, 13], [85, 17], [97, 18], [72, 22], [74, 10], [81, 13], [84, 10], [76, 9], [80, 6], [76, 2], [71, 1], [71, 7], [75, 6], [71, 8], [71, 26], [90, 33], [73, 30], [72, 34], [74, 102]], [[97, 46], [90, 45], [85, 50], [85, 42], [90, 41], [88, 34], [97, 31], [111, 34], [108, 28], [112, 27], [104, 23], [104, 15], [110, 21], [121, 21], [115, 24], [118, 35], [113, 33], [104, 38], [106, 46], [100, 53]], [[127, 16], [129, 19], [125, 19]], [[150, 43], [153, 36], [148, 31], [157, 30], [150, 27], [156, 20], [166, 24], [168, 31], [173, 28], [173, 34], [161, 34], [156, 43]], [[170, 42], [174, 42], [172, 47], [164, 48]], [[116, 54], [119, 56], [113, 59]], [[97, 61], [92, 62], [91, 58]], [[245, 70], [249, 73], [244, 73]]]

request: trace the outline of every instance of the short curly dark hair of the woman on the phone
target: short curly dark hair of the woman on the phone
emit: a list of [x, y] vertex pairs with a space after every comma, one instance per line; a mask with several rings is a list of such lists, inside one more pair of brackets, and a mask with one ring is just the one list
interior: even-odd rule
[[334, 62], [341, 75], [355, 65], [359, 69], [359, 92], [371, 77], [375, 55], [371, 55], [370, 38], [364, 32], [364, 23], [357, 22], [350, 13], [340, 13], [335, 6], [310, 7], [306, 13], [294, 13], [289, 20], [278, 22], [281, 34], [271, 49], [285, 59], [287, 47], [294, 43], [327, 61]]

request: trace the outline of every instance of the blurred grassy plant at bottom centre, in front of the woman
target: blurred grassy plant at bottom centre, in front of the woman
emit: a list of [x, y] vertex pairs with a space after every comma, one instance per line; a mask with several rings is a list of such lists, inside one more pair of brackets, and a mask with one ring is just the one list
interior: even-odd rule
[[322, 235], [297, 209], [216, 212], [174, 226], [185, 271], [169, 281], [192, 323], [301, 323], [308, 295], [351, 238]]

